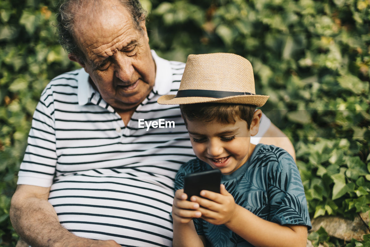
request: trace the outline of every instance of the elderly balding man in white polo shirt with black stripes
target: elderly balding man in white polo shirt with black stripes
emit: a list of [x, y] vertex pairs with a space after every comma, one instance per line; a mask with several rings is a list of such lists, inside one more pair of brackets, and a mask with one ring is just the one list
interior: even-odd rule
[[[176, 92], [184, 63], [150, 50], [138, 1], [70, 0], [58, 21], [83, 69], [41, 95], [11, 201], [14, 228], [31, 246], [171, 246], [173, 180], [195, 155], [178, 107], [157, 99]], [[261, 141], [294, 155], [261, 122]]]

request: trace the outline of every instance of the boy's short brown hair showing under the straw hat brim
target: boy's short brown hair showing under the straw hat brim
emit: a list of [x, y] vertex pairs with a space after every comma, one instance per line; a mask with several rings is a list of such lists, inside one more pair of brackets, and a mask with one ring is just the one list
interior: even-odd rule
[[182, 117], [186, 121], [218, 121], [220, 123], [235, 123], [237, 120], [247, 122], [248, 129], [256, 110], [255, 105], [229, 103], [195, 103], [180, 105]]

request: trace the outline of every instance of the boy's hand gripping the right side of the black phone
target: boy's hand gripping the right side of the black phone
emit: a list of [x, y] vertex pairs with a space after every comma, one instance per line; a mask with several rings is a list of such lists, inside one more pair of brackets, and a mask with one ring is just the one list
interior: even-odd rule
[[236, 212], [237, 204], [233, 196], [225, 189], [225, 185], [220, 185], [220, 193], [202, 190], [201, 197], [192, 196], [191, 201], [198, 202], [201, 206], [197, 210], [202, 213], [201, 218], [214, 225], [228, 223]]

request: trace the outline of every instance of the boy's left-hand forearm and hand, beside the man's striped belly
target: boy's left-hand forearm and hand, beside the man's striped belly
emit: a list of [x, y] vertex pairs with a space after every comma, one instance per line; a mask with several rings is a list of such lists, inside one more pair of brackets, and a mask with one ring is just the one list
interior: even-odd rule
[[172, 219], [174, 220], [174, 239], [173, 246], [205, 246], [205, 238], [195, 230], [192, 218], [200, 217], [201, 213], [196, 211], [199, 204], [186, 201], [187, 195], [184, 190], [175, 192], [174, 203], [172, 205]]

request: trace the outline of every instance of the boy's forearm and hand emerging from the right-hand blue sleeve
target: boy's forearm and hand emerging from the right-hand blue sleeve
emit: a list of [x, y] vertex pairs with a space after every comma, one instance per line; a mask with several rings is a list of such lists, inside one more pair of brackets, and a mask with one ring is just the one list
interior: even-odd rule
[[201, 195], [205, 198], [193, 196], [191, 200], [202, 206], [197, 210], [202, 213], [203, 220], [216, 225], [225, 224], [231, 231], [254, 246], [306, 246], [307, 227], [305, 225], [279, 225], [263, 220], [236, 204], [224, 185], [221, 185], [221, 194], [201, 191]]

